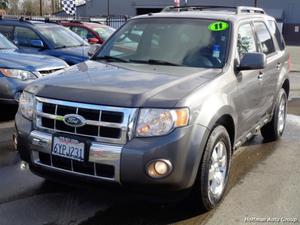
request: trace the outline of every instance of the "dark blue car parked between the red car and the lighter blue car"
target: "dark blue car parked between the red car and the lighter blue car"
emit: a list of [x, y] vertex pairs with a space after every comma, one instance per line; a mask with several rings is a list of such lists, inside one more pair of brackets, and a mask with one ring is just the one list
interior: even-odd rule
[[95, 49], [74, 32], [51, 22], [0, 19], [0, 33], [22, 52], [58, 57], [69, 65], [89, 59]]

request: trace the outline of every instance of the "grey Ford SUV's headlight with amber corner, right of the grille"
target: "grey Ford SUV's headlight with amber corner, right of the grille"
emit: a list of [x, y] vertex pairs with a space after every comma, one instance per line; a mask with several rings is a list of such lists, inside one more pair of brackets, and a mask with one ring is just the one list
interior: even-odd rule
[[141, 109], [136, 128], [137, 137], [166, 135], [177, 127], [187, 126], [189, 110]]

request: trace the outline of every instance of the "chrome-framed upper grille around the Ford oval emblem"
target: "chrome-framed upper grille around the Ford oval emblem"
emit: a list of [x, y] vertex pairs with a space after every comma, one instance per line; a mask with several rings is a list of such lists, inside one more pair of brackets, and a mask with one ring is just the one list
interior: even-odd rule
[[[107, 107], [51, 100], [37, 97], [36, 126], [51, 133], [62, 132], [96, 138], [100, 142], [125, 144], [131, 137], [136, 109]], [[77, 114], [86, 120], [82, 127], [63, 121], [65, 115]]]

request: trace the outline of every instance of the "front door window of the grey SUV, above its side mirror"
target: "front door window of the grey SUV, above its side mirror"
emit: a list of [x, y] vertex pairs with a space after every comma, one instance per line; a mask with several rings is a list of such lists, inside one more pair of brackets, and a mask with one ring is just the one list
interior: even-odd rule
[[240, 26], [237, 45], [240, 57], [248, 52], [257, 52], [256, 41], [250, 24]]

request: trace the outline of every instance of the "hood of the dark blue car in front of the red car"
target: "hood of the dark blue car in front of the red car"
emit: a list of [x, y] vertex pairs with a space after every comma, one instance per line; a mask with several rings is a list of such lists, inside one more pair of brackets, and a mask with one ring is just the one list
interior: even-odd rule
[[71, 48], [61, 48], [49, 50], [49, 55], [61, 58], [69, 65], [81, 63], [89, 59], [89, 52], [93, 51], [93, 46], [80, 46]]

